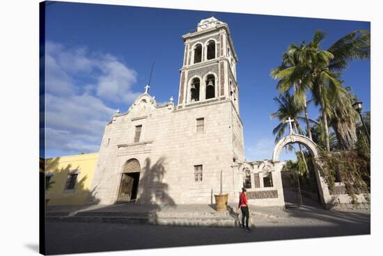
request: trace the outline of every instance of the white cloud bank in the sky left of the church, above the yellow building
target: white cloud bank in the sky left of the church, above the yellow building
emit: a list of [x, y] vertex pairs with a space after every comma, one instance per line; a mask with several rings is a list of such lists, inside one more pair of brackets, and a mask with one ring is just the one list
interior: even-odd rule
[[[47, 150], [97, 152], [114, 113], [108, 102], [129, 106], [136, 72], [110, 54], [47, 42], [45, 138]], [[84, 82], [85, 81], [85, 82]]]

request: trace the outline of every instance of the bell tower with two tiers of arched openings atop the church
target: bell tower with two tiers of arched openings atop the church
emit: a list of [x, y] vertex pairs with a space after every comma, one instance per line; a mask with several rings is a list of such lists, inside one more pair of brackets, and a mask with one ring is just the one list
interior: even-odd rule
[[178, 109], [230, 100], [239, 113], [237, 54], [228, 24], [202, 19], [193, 33], [182, 35], [185, 54], [180, 69]]

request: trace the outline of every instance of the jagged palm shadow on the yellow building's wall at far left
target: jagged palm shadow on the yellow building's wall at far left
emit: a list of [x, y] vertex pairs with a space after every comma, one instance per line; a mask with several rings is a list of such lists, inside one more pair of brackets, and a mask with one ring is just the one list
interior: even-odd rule
[[[95, 189], [89, 190], [86, 187], [86, 181], [88, 179], [87, 175], [81, 177], [81, 170], [79, 166], [72, 167], [72, 164], [68, 164], [65, 167], [58, 167], [60, 162], [60, 157], [53, 159], [45, 159], [45, 175], [47, 173], [52, 173], [50, 179], [50, 186], [45, 191], [45, 198], [49, 199], [48, 205], [85, 205], [88, 200], [92, 204], [98, 204], [100, 202], [97, 199]], [[79, 170], [79, 176], [74, 190], [65, 189], [68, 182], [68, 175], [74, 170]], [[40, 168], [41, 173], [41, 168]], [[45, 180], [46, 182], [46, 180]], [[40, 189], [45, 189], [45, 186], [41, 186]]]

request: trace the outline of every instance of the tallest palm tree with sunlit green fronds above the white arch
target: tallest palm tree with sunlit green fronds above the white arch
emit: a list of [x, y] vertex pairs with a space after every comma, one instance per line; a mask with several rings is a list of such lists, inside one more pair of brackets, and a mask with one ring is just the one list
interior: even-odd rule
[[[340, 72], [347, 67], [348, 61], [370, 56], [370, 34], [366, 31], [354, 31], [336, 41], [328, 50], [320, 49], [323, 38], [325, 33], [316, 31], [308, 45], [302, 43], [299, 48], [290, 45], [290, 58], [284, 54], [283, 60], [297, 59], [298, 62], [295, 65], [283, 64], [276, 67], [271, 75], [280, 79], [277, 88], [281, 93], [292, 87], [297, 88], [297, 95], [306, 95], [306, 90], [311, 90], [315, 104], [320, 105], [326, 149], [329, 151], [328, 119], [333, 115], [331, 104], [347, 98]], [[299, 98], [302, 97], [297, 97]], [[310, 129], [307, 130], [309, 133]]]

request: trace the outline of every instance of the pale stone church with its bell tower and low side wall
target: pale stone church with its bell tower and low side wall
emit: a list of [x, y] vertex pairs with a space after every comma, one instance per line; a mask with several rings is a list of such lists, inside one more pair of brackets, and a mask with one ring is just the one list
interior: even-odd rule
[[[92, 191], [115, 202], [283, 205], [279, 162], [245, 162], [237, 54], [228, 24], [214, 17], [182, 35], [178, 105], [158, 105], [149, 86], [126, 113], [111, 117], [102, 137]], [[279, 170], [279, 171], [278, 171]]]

